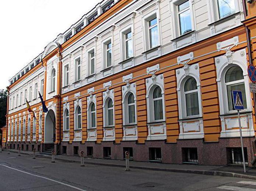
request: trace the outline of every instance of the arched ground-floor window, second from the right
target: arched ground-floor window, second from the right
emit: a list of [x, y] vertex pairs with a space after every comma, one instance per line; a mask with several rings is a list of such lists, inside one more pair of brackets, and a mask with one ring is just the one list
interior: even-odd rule
[[190, 77], [184, 84], [187, 116], [199, 115], [199, 101], [196, 79]]

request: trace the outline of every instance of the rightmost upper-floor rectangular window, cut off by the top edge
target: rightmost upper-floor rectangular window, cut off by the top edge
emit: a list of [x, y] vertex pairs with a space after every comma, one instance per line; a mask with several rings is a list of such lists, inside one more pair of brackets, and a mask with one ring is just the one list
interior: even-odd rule
[[235, 13], [235, 1], [234, 0], [217, 0], [219, 18], [227, 17]]

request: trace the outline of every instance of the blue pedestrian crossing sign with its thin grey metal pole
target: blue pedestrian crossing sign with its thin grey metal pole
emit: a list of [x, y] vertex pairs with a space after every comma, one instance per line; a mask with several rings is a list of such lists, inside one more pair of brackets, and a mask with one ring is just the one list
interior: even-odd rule
[[243, 108], [242, 91], [232, 90], [231, 93], [232, 93], [232, 100], [233, 100], [233, 108], [234, 108], [234, 110], [237, 110], [237, 113], [238, 113], [238, 123], [239, 123], [242, 157], [243, 157], [243, 172], [246, 173], [246, 170], [245, 170], [245, 154], [243, 152], [242, 127], [241, 127], [241, 120], [240, 120], [240, 110], [244, 109]]

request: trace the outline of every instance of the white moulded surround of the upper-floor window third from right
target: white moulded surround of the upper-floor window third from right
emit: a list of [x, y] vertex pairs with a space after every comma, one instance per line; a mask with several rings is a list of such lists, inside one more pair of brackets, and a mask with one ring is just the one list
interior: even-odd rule
[[143, 26], [143, 35], [144, 35], [144, 51], [147, 50], [151, 50], [154, 49], [155, 47], [150, 47], [150, 35], [149, 35], [149, 26], [148, 26], [148, 22], [153, 19], [153, 18], [157, 18], [157, 30], [158, 30], [158, 45], [156, 45], [155, 47], [160, 46], [161, 43], [161, 28], [160, 28], [160, 24], [159, 24], [159, 10], [155, 10], [150, 12], [149, 14], [145, 15], [142, 17], [142, 26]]

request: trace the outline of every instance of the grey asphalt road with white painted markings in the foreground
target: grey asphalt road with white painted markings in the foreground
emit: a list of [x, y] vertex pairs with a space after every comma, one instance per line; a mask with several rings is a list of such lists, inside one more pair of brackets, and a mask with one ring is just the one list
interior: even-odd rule
[[[243, 182], [241, 182], [243, 181]], [[0, 153], [0, 191], [256, 191], [256, 181], [120, 167], [51, 163], [50, 159]]]

